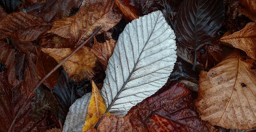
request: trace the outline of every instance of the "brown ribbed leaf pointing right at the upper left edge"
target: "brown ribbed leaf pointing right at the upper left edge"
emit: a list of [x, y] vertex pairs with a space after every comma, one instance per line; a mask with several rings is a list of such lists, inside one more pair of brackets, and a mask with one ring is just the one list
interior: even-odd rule
[[33, 41], [49, 30], [42, 18], [30, 13], [14, 12], [0, 21], [0, 39], [13, 36], [20, 41]]

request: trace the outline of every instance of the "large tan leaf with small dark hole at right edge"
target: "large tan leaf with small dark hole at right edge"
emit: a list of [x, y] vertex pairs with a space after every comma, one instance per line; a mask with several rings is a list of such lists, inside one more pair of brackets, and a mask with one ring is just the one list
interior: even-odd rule
[[256, 126], [256, 63], [238, 50], [201, 72], [196, 106], [201, 119], [231, 129]]

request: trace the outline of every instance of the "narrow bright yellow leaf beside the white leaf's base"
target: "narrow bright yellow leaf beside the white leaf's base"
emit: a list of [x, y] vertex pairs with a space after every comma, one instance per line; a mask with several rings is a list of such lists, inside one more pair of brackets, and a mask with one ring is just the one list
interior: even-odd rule
[[[83, 132], [94, 127], [94, 125], [99, 121], [101, 116], [106, 112], [106, 105], [103, 101], [103, 98], [99, 94], [99, 90], [92, 81], [92, 98], [89, 102], [88, 113], [86, 115], [85, 124], [83, 125]], [[106, 116], [110, 116], [108, 112]]]

